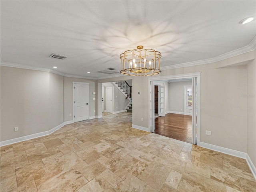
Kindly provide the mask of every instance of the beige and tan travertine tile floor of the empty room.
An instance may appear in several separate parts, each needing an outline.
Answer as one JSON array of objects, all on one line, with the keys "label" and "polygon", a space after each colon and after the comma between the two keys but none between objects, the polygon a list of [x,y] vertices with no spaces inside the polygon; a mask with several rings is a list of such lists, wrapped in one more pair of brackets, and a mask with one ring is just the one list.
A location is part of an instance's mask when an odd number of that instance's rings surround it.
[{"label": "beige and tan travertine tile floor of the empty room", "polygon": [[131,128],[129,112],[1,148],[1,192],[252,192],[246,160]]}]

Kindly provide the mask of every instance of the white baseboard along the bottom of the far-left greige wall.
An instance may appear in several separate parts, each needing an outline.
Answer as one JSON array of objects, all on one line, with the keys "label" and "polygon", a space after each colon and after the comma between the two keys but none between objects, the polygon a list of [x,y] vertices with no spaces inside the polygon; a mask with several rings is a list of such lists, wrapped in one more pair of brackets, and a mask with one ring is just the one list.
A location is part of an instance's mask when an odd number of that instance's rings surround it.
[{"label": "white baseboard along the bottom of the far-left greige wall", "polygon": [[15,139],[1,141],[0,146],[2,147],[2,146],[5,146],[5,145],[10,145],[10,144],[14,144],[14,143],[18,143],[18,142],[22,142],[22,141],[26,141],[26,140],[30,140],[30,139],[34,139],[34,138],[38,138],[38,137],[42,137],[42,136],[46,136],[46,135],[50,135],[51,133],[53,133],[54,131],[58,130],[59,128],[61,128],[63,126],[64,126],[64,124],[62,123],[62,124],[52,128],[49,131],[44,131],[44,132],[35,133],[35,134],[32,134],[32,135],[27,135],[27,136],[15,138]]}]

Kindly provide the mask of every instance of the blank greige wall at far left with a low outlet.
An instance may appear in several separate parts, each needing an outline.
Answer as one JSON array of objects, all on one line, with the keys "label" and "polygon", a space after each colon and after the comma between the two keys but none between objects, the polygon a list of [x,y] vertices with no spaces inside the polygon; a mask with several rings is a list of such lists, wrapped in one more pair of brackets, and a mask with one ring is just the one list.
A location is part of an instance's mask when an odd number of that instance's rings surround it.
[{"label": "blank greige wall at far left with a low outlet", "polygon": [[[1,66],[1,137],[46,132],[63,123],[63,77]],[[14,132],[14,127],[18,131]]]}]

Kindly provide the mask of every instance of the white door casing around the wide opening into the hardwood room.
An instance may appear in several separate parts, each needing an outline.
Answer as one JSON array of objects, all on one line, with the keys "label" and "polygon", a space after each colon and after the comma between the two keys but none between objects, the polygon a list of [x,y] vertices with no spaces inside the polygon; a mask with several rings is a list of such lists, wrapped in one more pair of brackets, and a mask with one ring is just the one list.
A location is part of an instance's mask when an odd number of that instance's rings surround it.
[{"label": "white door casing around the wide opening into the hardwood room", "polygon": [[[192,144],[200,144],[200,72],[148,78],[149,86],[149,129],[155,131],[154,82],[164,80],[192,79]],[[183,98],[183,97],[182,97]],[[183,110],[183,109],[182,109]]]}]

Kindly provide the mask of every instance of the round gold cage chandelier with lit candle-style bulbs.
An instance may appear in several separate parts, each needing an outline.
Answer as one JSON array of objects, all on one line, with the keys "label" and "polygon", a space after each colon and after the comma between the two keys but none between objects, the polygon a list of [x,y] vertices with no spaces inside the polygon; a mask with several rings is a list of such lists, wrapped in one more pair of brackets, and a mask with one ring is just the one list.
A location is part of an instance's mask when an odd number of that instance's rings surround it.
[{"label": "round gold cage chandelier with lit candle-style bulbs", "polygon": [[150,76],[161,73],[161,53],[153,49],[144,49],[137,46],[137,49],[127,50],[120,54],[121,74],[130,76]]}]

